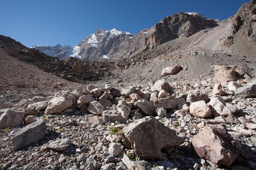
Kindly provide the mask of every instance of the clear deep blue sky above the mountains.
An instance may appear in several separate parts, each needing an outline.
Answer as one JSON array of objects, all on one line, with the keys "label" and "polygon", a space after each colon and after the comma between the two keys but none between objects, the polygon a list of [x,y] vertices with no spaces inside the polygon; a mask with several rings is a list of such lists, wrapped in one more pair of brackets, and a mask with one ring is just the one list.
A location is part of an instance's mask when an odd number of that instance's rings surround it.
[{"label": "clear deep blue sky above the mountains", "polygon": [[250,0],[0,0],[0,35],[28,47],[72,45],[98,28],[138,33],[177,12],[228,19]]}]

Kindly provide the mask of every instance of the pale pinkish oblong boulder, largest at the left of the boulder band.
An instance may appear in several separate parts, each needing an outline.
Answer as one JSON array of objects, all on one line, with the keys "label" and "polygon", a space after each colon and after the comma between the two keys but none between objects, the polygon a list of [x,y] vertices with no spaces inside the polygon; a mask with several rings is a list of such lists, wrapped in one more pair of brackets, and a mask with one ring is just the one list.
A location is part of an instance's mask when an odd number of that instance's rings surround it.
[{"label": "pale pinkish oblong boulder, largest at the left of the boulder band", "polygon": [[57,114],[65,111],[65,109],[70,108],[73,104],[71,99],[66,97],[54,97],[49,101],[48,107],[46,108],[45,114]]}]

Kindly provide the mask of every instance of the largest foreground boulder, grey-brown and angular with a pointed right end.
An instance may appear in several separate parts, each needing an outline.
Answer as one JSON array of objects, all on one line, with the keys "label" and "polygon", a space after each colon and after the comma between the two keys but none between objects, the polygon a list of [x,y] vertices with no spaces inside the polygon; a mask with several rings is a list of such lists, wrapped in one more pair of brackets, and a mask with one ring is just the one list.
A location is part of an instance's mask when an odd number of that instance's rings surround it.
[{"label": "largest foreground boulder, grey-brown and angular with a pointed right end", "polygon": [[123,128],[122,137],[123,145],[134,150],[141,159],[161,159],[162,151],[184,142],[175,130],[167,128],[152,116],[136,120]]}]

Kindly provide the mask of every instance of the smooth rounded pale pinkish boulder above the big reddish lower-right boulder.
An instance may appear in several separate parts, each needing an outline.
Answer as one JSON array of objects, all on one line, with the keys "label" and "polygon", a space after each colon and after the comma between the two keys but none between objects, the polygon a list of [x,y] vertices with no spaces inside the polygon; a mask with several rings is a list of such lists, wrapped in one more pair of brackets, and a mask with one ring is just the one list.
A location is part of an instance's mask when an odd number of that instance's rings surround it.
[{"label": "smooth rounded pale pinkish boulder above the big reddish lower-right boulder", "polygon": [[195,117],[208,118],[212,116],[212,111],[210,111],[204,100],[191,103],[189,111]]}]

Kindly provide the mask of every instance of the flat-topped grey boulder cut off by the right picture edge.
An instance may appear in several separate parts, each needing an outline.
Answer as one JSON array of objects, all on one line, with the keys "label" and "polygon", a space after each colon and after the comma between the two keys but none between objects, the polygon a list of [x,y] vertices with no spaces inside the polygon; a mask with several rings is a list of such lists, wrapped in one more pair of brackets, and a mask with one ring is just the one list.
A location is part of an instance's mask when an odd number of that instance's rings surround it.
[{"label": "flat-topped grey boulder cut off by the right picture edge", "polygon": [[245,98],[256,97],[256,84],[248,84],[246,86],[238,88],[236,95]]}]

